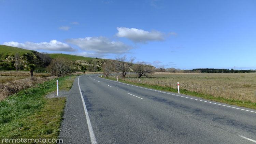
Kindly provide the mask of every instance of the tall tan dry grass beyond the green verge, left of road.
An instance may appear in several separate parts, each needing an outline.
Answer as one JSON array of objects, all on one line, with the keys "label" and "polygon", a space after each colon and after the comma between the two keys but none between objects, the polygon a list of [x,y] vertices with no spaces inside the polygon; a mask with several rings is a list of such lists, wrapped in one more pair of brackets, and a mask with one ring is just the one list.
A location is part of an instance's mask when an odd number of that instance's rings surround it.
[{"label": "tall tan dry grass beyond the green verge, left of road", "polygon": [[0,84],[0,100],[7,98],[14,93],[32,87],[36,84],[41,84],[45,81],[52,80],[56,78],[55,76],[51,77],[31,77],[31,78],[24,78],[19,80],[13,80],[7,83]]}]

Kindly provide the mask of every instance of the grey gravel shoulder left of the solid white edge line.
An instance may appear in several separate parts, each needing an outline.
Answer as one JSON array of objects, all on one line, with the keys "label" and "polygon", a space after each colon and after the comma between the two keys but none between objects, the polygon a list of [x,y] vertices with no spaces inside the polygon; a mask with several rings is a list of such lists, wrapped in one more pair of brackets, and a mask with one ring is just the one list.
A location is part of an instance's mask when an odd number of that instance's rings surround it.
[{"label": "grey gravel shoulder left of the solid white edge line", "polygon": [[[59,138],[65,144],[91,143],[85,112],[77,83],[77,76],[69,91],[60,91],[59,97],[66,97],[63,120],[61,122]],[[56,92],[48,98],[56,97]]]}]

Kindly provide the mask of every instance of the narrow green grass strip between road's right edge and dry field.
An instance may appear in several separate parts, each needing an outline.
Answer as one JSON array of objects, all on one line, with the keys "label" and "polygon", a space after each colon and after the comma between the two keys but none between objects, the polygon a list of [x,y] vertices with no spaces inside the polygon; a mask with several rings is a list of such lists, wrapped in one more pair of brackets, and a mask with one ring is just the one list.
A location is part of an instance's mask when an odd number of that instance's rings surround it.
[{"label": "narrow green grass strip between road's right edge and dry field", "polygon": [[[116,81],[116,78],[112,78],[112,77],[105,77],[105,78],[109,79],[109,80]],[[158,85],[147,85],[147,84],[142,84],[142,83],[134,83],[134,82],[129,82],[129,81],[122,80],[122,79],[119,79],[119,78],[118,78],[118,82],[123,82],[123,83],[131,84],[131,85],[137,85],[137,86],[156,89],[156,90],[169,91],[169,92],[175,92],[175,93],[178,92],[178,89],[175,89],[175,88],[163,87],[163,86],[158,86]],[[189,96],[195,96],[195,97],[211,100],[211,101],[227,103],[227,104],[230,104],[230,105],[237,105],[237,106],[247,107],[247,108],[256,110],[256,103],[251,102],[251,101],[241,101],[241,100],[235,100],[235,99],[226,99],[226,98],[222,98],[222,97],[214,97],[212,95],[197,93],[197,92],[194,92],[194,91],[193,92],[188,91],[186,89],[180,89],[180,93],[185,94],[185,95],[189,95]]]}]

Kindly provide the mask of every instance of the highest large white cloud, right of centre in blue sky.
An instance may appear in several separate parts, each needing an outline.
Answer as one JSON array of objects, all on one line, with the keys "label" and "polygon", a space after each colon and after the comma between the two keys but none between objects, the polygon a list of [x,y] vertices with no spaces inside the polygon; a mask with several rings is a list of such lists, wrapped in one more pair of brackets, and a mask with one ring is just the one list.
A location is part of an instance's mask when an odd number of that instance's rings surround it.
[{"label": "highest large white cloud, right of centre in blue sky", "polygon": [[125,37],[133,42],[147,43],[147,41],[163,41],[164,33],[160,31],[144,31],[136,28],[117,27],[117,37]]}]

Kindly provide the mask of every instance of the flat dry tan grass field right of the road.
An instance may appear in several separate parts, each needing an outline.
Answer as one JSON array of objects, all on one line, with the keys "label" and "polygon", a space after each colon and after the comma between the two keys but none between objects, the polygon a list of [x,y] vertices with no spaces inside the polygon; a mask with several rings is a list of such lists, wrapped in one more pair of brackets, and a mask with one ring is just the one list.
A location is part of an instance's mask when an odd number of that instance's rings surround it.
[{"label": "flat dry tan grass field right of the road", "polygon": [[[116,77],[116,75],[112,75]],[[120,76],[118,76],[119,78]],[[120,77],[121,78],[121,77]],[[149,78],[129,74],[125,80],[147,85],[177,88],[209,94],[214,97],[256,102],[255,73],[153,73]]]}]

